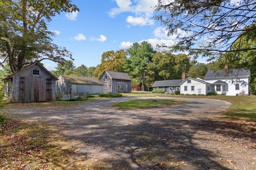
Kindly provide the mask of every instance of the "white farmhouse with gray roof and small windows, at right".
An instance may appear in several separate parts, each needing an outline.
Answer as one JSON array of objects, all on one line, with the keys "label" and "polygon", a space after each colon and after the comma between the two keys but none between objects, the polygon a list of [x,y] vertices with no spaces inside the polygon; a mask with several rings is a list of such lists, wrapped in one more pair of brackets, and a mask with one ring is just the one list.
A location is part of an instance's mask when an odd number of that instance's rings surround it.
[{"label": "white farmhouse with gray roof and small windows, at right", "polygon": [[236,96],[249,94],[250,70],[207,71],[204,79],[187,78],[180,83],[180,93],[189,95],[207,95],[217,92],[218,95]]}]

